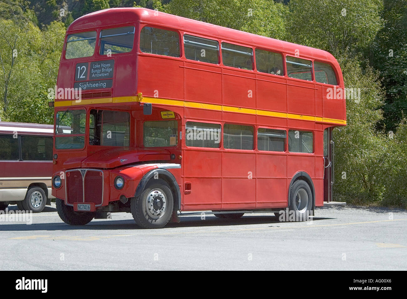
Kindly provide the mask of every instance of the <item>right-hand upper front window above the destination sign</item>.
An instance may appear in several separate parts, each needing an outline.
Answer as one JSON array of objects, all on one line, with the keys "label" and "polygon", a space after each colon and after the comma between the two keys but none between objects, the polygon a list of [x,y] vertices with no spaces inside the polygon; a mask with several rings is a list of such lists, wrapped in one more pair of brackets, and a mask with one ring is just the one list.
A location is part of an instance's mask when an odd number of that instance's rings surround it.
[{"label": "right-hand upper front window above the destination sign", "polygon": [[127,53],[133,48],[134,26],[101,31],[101,55]]}]

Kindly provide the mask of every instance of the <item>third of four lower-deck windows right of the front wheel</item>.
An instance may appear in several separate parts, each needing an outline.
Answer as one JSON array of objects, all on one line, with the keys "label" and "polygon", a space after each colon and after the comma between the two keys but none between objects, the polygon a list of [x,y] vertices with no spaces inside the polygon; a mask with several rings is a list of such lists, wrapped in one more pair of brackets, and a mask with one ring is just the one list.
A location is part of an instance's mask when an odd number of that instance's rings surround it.
[{"label": "third of four lower-deck windows right of the front wheel", "polygon": [[258,128],[257,147],[259,151],[284,152],[286,131]]}]

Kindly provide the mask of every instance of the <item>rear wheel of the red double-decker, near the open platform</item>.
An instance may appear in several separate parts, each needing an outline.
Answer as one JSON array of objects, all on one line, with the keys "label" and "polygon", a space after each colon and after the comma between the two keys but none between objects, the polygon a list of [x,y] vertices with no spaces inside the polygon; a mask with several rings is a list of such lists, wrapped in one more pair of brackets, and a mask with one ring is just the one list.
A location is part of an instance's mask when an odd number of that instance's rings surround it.
[{"label": "rear wheel of the red double-decker, near the open platform", "polygon": [[295,221],[305,221],[313,205],[311,188],[304,180],[296,180],[290,188],[289,211],[295,214]]}]

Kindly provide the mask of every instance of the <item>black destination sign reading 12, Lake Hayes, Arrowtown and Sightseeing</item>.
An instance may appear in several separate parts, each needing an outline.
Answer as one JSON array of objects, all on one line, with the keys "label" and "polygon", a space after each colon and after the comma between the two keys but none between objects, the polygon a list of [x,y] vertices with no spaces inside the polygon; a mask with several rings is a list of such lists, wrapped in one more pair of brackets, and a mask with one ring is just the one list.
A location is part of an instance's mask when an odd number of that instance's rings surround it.
[{"label": "black destination sign reading 12, Lake Hayes, Arrowtown and Sightseeing", "polygon": [[114,59],[78,63],[75,70],[75,81],[77,82],[74,83],[74,88],[81,88],[82,90],[111,88],[113,86],[113,79],[111,79],[113,78],[113,70]]}]

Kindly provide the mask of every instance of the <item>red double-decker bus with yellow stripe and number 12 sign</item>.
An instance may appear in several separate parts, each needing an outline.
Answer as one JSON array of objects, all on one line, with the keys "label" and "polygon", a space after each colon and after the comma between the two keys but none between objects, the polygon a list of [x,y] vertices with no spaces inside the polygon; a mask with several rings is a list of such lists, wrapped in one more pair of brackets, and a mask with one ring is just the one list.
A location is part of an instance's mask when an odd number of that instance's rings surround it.
[{"label": "red double-decker bus with yellow stripe and number 12 sign", "polygon": [[346,105],[327,97],[344,81],[326,51],[107,9],[68,27],[57,88],[52,192],[68,224],[118,211],[143,228],[182,211],[301,216],[332,201]]}]

